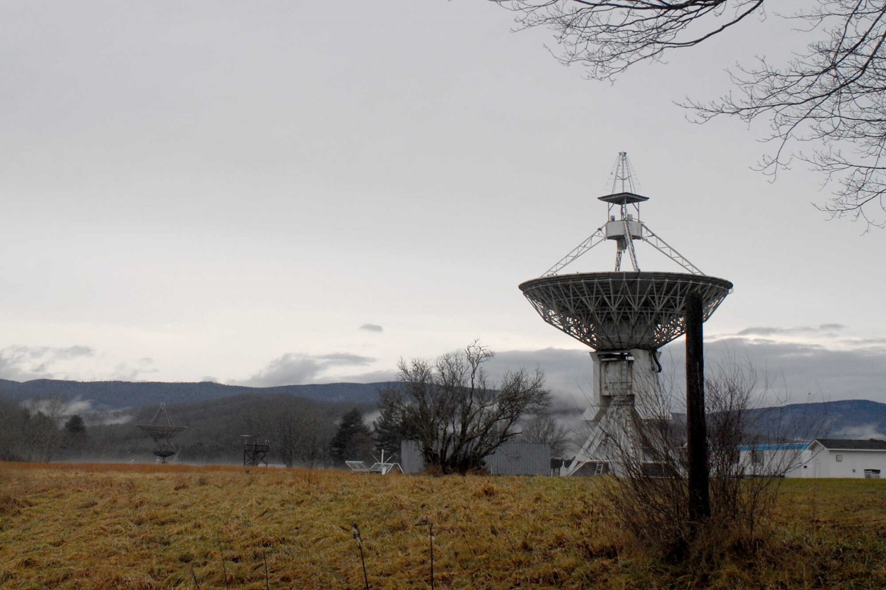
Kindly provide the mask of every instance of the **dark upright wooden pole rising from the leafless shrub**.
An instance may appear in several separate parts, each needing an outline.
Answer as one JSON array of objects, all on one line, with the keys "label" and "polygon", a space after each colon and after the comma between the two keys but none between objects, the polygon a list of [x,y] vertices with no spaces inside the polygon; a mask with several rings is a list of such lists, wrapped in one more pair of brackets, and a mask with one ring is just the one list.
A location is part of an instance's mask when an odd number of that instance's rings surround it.
[{"label": "dark upright wooden pole rising from the leafless shrub", "polygon": [[686,432],[689,521],[711,516],[708,471],[708,428],[704,418],[704,335],[702,296],[686,298]]}]

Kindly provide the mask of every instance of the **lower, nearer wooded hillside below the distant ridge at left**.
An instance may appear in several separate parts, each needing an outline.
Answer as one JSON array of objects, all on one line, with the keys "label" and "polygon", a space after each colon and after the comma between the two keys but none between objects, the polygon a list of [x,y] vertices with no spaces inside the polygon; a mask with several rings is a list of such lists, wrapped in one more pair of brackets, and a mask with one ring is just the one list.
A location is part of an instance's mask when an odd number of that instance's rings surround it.
[{"label": "lower, nearer wooded hillside below the distant ridge at left", "polygon": [[[241,436],[252,435],[256,440],[268,441],[269,462],[328,466],[330,440],[342,415],[352,408],[370,413],[375,406],[307,400],[285,393],[249,393],[196,403],[169,403],[166,409],[176,426],[187,427],[173,439],[182,449],[177,461],[242,462]],[[57,401],[28,409],[0,396],[0,459],[155,461],[154,442],[136,425],[150,423],[159,404],[137,408],[125,423],[86,421],[81,423],[82,428],[73,428],[72,416],[60,414],[63,409],[64,404]]]}]

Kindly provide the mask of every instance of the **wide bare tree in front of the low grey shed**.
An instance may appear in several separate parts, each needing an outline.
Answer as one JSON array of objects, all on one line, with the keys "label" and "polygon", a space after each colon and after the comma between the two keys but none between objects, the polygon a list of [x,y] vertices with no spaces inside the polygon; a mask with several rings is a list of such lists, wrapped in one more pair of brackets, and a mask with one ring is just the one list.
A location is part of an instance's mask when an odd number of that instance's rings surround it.
[{"label": "wide bare tree in front of the low grey shed", "polygon": [[548,405],[544,374],[525,369],[488,382],[483,363],[493,353],[476,342],[462,354],[436,362],[400,361],[400,387],[381,392],[380,408],[403,425],[422,449],[424,462],[441,473],[467,473],[517,436],[517,423]]}]

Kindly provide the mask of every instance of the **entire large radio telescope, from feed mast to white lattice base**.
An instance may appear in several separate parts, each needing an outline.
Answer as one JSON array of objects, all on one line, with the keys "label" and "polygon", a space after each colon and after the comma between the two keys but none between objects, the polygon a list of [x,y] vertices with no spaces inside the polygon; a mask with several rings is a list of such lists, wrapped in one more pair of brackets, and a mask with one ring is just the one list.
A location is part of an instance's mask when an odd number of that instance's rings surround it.
[{"label": "entire large radio telescope, from feed mast to white lattice base", "polygon": [[[732,290],[732,283],[706,276],[658,237],[640,219],[640,205],[626,152],[612,171],[607,221],[539,278],[520,284],[541,318],[590,346],[594,361],[594,400],[585,411],[587,442],[567,467],[567,475],[620,473],[625,454],[639,456],[637,427],[643,421],[667,420],[662,407],[658,349],[686,331],[684,307],[690,293],[700,295],[707,320]],[[612,272],[558,274],[579,256],[600,245],[616,244]],[[645,243],[664,253],[686,272],[641,271],[635,245]],[[623,271],[623,259],[633,270]]]}]

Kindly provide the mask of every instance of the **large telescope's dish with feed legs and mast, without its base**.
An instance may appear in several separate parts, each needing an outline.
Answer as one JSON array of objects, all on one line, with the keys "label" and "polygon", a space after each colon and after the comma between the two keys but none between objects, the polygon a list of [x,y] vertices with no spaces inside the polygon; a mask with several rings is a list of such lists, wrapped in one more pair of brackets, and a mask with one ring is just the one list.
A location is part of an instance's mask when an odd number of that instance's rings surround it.
[{"label": "large telescope's dish with feed legs and mast, without its base", "polygon": [[[732,283],[704,275],[641,221],[640,204],[649,198],[636,193],[626,152],[618,154],[612,176],[612,192],[599,198],[608,206],[608,221],[543,276],[521,283],[520,291],[545,322],[597,351],[657,350],[686,332],[683,309],[690,293],[701,296],[707,320]],[[558,274],[608,241],[617,245],[613,272]],[[688,272],[641,271],[637,243],[651,245]],[[625,258],[633,272],[621,269]]]}]

